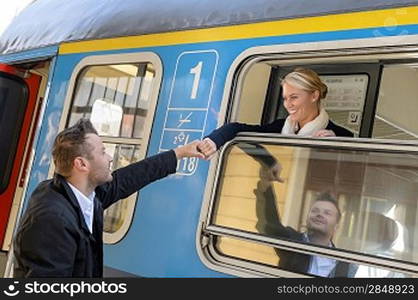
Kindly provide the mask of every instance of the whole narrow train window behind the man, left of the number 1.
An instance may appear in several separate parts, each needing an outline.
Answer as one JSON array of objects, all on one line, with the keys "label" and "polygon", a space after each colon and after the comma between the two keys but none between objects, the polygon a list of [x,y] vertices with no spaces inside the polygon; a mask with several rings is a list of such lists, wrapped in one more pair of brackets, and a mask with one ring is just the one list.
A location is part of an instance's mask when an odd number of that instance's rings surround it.
[{"label": "whole narrow train window behind the man, left of the number 1", "polygon": [[[142,159],[155,109],[158,88],[155,64],[124,63],[87,66],[77,77],[68,119],[71,126],[90,118],[113,156],[113,169]],[[159,78],[161,75],[159,75]],[[116,242],[132,219],[136,195],[118,201],[105,211],[106,242]],[[112,238],[117,236],[117,238]]]}]

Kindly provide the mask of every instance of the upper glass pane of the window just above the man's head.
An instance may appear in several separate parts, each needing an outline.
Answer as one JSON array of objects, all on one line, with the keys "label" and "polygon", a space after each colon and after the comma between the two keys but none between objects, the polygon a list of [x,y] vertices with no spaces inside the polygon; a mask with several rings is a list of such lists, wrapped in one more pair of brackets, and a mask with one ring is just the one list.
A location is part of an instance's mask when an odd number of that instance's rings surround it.
[{"label": "upper glass pane of the window just above the man's head", "polygon": [[142,138],[154,78],[149,63],[85,68],[77,79],[69,126],[86,117],[102,136]]}]

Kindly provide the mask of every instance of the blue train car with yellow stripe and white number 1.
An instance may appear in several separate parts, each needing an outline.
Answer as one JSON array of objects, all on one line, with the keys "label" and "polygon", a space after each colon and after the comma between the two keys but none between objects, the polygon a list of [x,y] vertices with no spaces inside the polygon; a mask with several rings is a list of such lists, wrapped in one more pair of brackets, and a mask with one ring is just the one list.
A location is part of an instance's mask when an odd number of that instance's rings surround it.
[{"label": "blue train car with yellow stripe and white number 1", "polygon": [[[225,123],[285,116],[280,78],[304,66],[355,138],[244,133],[210,161],[179,161],[105,212],[105,274],[310,276],[280,268],[281,249],[348,262],[355,277],[416,277],[417,20],[406,0],[34,1],[0,37],[4,276],[29,196],[53,174],[57,132],[90,118],[119,168]],[[259,146],[280,159],[284,183],[248,155]],[[324,190],[343,211],[335,247],[257,229],[273,200],[302,231]]]}]

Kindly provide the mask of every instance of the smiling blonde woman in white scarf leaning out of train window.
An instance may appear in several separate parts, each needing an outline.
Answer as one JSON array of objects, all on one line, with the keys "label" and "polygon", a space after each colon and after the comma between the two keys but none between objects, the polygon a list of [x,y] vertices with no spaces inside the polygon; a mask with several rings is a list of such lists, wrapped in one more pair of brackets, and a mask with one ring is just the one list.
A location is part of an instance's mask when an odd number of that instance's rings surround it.
[{"label": "smiling blonde woman in white scarf leaning out of train window", "polygon": [[314,71],[297,68],[284,77],[281,86],[284,107],[289,113],[286,119],[278,119],[267,125],[226,124],[214,130],[198,145],[205,157],[210,157],[241,131],[305,137],[353,136],[349,130],[334,124],[325,109],[321,108],[321,99],[326,97],[328,88]]}]

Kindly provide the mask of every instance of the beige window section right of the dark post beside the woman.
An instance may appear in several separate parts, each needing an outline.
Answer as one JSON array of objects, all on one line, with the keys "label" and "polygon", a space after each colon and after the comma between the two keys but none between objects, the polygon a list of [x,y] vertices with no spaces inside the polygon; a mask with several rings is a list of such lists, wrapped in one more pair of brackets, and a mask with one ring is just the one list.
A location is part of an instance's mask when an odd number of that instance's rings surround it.
[{"label": "beige window section right of the dark post beside the woman", "polygon": [[418,137],[418,66],[383,68],[373,138],[416,140]]}]

